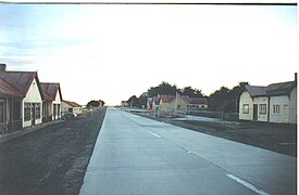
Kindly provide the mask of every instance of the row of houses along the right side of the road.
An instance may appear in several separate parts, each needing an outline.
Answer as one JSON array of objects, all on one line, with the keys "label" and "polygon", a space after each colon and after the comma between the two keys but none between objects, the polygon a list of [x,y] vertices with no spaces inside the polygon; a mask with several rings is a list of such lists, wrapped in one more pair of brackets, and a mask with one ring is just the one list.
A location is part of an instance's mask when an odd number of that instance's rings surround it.
[{"label": "row of houses along the right side of the road", "polygon": [[[295,80],[272,83],[265,87],[246,86],[237,96],[240,120],[297,123],[297,74]],[[122,106],[128,106],[123,101]],[[165,113],[205,110],[205,98],[187,95],[158,95],[148,98],[147,109]]]}]

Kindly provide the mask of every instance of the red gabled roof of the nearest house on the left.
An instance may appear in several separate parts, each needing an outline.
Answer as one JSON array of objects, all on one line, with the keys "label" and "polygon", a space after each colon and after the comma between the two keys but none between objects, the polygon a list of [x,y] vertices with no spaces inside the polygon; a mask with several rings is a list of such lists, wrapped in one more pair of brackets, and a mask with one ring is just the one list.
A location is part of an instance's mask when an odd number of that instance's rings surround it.
[{"label": "red gabled roof of the nearest house on the left", "polygon": [[[36,72],[0,72],[0,79],[11,86],[11,90],[14,89],[15,94],[16,92],[21,93],[22,98],[26,96],[34,79],[37,80],[37,86],[41,92],[41,87],[39,84],[39,79]],[[43,99],[42,93],[40,95]]]}]

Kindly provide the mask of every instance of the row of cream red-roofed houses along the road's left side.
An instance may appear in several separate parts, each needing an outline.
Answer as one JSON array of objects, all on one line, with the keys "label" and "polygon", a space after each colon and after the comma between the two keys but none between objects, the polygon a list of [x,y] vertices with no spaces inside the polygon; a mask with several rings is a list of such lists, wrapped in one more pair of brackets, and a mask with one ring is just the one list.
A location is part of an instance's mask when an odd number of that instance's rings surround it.
[{"label": "row of cream red-roofed houses along the road's left side", "polygon": [[40,82],[37,72],[9,72],[0,64],[0,135],[60,119],[70,107],[60,83]]}]

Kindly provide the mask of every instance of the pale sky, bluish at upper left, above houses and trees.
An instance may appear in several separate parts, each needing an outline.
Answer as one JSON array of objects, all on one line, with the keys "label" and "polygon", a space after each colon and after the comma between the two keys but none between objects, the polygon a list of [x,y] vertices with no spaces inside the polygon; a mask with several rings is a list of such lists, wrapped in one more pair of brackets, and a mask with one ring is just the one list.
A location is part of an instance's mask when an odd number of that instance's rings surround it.
[{"label": "pale sky, bluish at upper left, above houses and trees", "polygon": [[294,80],[296,5],[0,3],[0,63],[119,105],[162,81],[205,95]]}]

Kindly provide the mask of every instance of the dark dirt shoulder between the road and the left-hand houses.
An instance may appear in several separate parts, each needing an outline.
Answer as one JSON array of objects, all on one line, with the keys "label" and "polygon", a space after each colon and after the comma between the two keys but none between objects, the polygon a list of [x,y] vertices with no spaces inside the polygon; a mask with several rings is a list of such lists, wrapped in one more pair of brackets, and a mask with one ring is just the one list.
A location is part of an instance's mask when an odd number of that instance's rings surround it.
[{"label": "dark dirt shoulder between the road and the left-hand houses", "polygon": [[0,144],[1,194],[78,194],[105,108]]}]

